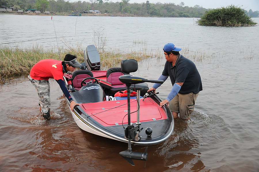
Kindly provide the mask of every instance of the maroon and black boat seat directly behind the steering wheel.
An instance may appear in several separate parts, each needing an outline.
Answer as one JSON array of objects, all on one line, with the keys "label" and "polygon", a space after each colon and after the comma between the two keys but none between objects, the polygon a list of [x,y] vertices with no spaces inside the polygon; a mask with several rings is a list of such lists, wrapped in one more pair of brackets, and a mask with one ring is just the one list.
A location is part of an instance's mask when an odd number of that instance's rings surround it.
[{"label": "maroon and black boat seat directly behind the steering wheel", "polygon": [[[81,82],[83,81],[83,79],[85,79],[87,77],[93,77],[93,73],[90,70],[76,70],[75,72],[73,72],[72,78],[68,79],[68,80],[72,81],[73,89],[71,91],[74,92],[74,91],[80,90]],[[86,83],[89,81],[91,81],[91,79],[85,80]],[[84,85],[86,85],[86,84],[83,84],[83,86]]]}]

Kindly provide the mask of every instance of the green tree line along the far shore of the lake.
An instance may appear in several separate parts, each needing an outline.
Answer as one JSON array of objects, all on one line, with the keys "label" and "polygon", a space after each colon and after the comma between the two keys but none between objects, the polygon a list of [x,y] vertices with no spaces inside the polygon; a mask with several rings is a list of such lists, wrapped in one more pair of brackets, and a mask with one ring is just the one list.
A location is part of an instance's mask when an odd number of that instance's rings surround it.
[{"label": "green tree line along the far shore of the lake", "polygon": [[[37,9],[55,13],[70,13],[71,11],[99,10],[102,13],[119,14],[127,13],[134,16],[156,16],[156,17],[196,17],[200,18],[206,8],[200,5],[193,7],[184,6],[184,2],[175,3],[129,3],[129,0],[121,2],[109,2],[108,0],[89,0],[69,2],[64,0],[0,0],[0,5],[14,5],[14,11],[18,9]],[[248,16],[258,17],[259,12],[251,9]]]}]

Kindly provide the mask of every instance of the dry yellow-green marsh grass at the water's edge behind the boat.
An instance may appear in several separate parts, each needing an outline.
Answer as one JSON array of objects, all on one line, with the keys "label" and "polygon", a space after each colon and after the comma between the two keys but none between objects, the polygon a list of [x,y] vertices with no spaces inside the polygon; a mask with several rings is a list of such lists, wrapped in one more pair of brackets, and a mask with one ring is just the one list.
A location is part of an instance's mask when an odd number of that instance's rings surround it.
[{"label": "dry yellow-green marsh grass at the water's edge behind the boat", "polygon": [[[30,73],[34,64],[43,59],[64,60],[67,53],[77,56],[80,63],[84,62],[82,49],[62,49],[60,56],[54,50],[43,50],[42,47],[33,47],[31,49],[19,49],[0,47],[0,83],[4,84],[20,76],[26,76]],[[121,60],[135,59],[138,62],[147,58],[161,56],[146,52],[130,52],[130,53],[115,53],[101,51],[101,70],[106,70],[111,67],[120,66]],[[61,58],[60,58],[61,57]]]}]

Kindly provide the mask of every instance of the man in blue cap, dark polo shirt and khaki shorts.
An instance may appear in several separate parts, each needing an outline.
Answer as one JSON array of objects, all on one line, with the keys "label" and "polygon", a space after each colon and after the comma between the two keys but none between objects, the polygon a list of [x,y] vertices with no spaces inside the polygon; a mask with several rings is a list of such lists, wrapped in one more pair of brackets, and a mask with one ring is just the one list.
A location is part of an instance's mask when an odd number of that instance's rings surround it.
[{"label": "man in blue cap, dark polo shirt and khaki shorts", "polygon": [[[160,102],[160,106],[169,105],[174,118],[179,113],[181,119],[190,119],[199,91],[202,90],[201,76],[195,64],[180,55],[181,48],[167,43],[163,50],[166,62],[159,80],[165,81],[169,76],[173,88],[167,98]],[[155,92],[160,85],[155,83],[148,91]]]}]

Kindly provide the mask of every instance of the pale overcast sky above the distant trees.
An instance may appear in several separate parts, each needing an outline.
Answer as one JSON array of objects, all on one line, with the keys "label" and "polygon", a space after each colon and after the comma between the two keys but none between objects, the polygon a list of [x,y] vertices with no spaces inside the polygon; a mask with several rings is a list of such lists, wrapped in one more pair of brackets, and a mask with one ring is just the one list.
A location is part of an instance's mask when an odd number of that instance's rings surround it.
[{"label": "pale overcast sky above the distant trees", "polygon": [[[75,2],[77,0],[70,0],[70,2]],[[89,0],[81,0],[89,1]],[[109,0],[112,2],[117,2],[121,0]],[[143,3],[147,0],[130,0],[129,3]],[[259,0],[148,0],[150,3],[175,3],[179,5],[181,2],[184,2],[184,6],[193,7],[194,5],[200,5],[204,8],[220,8],[226,7],[228,5],[235,5],[241,7],[247,11],[252,9],[252,11],[259,11]],[[242,6],[243,5],[243,6]]]}]

